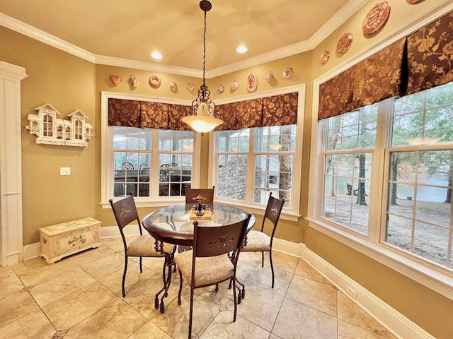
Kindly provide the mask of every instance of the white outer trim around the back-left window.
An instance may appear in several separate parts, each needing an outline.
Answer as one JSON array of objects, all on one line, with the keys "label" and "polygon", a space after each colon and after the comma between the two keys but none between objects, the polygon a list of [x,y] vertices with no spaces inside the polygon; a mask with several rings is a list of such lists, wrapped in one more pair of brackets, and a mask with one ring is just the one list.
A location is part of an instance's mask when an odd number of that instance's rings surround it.
[{"label": "white outer trim around the back-left window", "polygon": [[[140,100],[161,102],[165,104],[175,105],[192,105],[189,100],[169,100],[161,97],[148,97],[145,95],[132,95],[126,93],[101,92],[101,202],[102,208],[110,208],[108,200],[113,198],[113,186],[109,183],[113,182],[113,160],[112,152],[113,133],[108,129],[108,99],[124,99],[124,100]],[[194,150],[192,158],[192,184],[197,186],[200,182],[200,148],[201,148],[200,133],[195,133]],[[156,147],[157,145],[154,145]],[[155,150],[153,150],[154,152]],[[117,199],[117,198],[116,198]],[[151,197],[137,197],[135,204],[137,207],[159,207],[167,206],[168,204],[185,203],[183,196],[161,196],[159,199]]]}]

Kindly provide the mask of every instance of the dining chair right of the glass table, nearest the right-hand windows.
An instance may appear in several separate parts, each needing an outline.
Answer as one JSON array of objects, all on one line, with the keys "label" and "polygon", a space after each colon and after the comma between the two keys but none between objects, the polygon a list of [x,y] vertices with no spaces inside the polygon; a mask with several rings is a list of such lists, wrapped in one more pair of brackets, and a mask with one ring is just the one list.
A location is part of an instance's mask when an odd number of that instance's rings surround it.
[{"label": "dining chair right of the glass table, nearest the right-hand windows", "polygon": [[[246,234],[244,240],[244,246],[242,251],[244,252],[261,252],[261,267],[264,267],[264,252],[269,252],[270,270],[272,271],[272,288],[274,288],[274,266],[272,263],[272,243],[274,240],[275,229],[277,228],[278,220],[280,219],[280,213],[282,213],[284,200],[278,200],[272,196],[272,192],[269,194],[268,205],[263,217],[263,224],[261,225],[261,231],[251,230]],[[270,235],[265,234],[264,227],[266,220],[273,224],[273,230]]]}]

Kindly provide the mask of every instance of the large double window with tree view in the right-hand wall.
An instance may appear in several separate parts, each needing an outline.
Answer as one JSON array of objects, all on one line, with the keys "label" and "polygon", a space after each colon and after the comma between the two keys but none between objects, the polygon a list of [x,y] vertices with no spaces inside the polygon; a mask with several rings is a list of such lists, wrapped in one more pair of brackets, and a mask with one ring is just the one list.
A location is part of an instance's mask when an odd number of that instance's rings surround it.
[{"label": "large double window with tree view in the right-hand wall", "polygon": [[319,121],[310,225],[451,276],[451,93],[447,83]]}]

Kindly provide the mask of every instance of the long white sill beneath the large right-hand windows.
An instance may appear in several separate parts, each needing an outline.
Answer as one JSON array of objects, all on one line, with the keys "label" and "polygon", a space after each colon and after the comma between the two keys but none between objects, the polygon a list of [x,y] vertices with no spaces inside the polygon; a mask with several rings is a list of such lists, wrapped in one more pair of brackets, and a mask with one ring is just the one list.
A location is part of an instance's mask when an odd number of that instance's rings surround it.
[{"label": "long white sill beneath the large right-hand windows", "polygon": [[427,266],[422,261],[417,261],[415,258],[404,256],[394,251],[391,246],[374,244],[363,237],[342,230],[324,220],[311,218],[306,218],[306,220],[309,222],[309,227],[453,300],[453,275],[446,270]]}]

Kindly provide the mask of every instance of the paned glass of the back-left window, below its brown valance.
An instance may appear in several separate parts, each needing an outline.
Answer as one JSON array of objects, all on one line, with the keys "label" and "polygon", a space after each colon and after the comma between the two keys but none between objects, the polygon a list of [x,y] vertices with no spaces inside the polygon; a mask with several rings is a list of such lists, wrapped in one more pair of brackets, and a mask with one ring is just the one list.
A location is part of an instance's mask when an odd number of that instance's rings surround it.
[{"label": "paned glass of the back-left window, below its brown valance", "polygon": [[[184,195],[192,180],[193,131],[109,129],[113,130],[113,196]],[[152,164],[157,167],[154,171]]]}]

